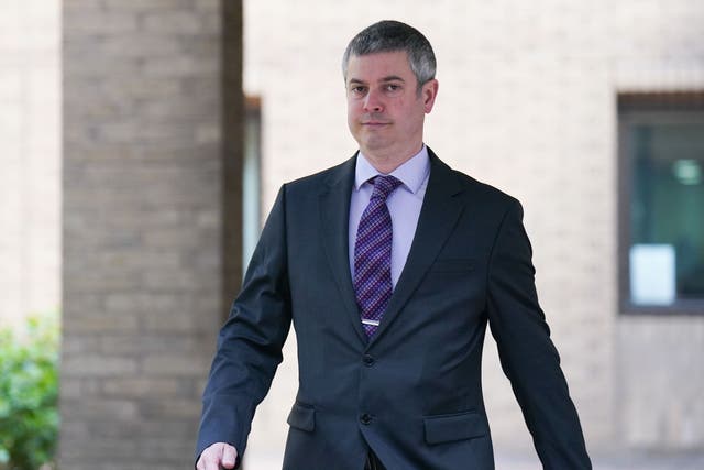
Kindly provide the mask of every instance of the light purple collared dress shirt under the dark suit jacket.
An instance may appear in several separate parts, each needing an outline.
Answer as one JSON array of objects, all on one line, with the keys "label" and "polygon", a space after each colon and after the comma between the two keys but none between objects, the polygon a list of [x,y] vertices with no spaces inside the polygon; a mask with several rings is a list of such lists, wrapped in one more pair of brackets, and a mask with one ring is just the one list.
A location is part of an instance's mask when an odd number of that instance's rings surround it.
[{"label": "light purple collared dress shirt under the dark suit jacket", "polygon": [[[374,185],[369,179],[380,175],[380,173],[366,157],[360,152],[356,159],[354,174],[354,187],[352,188],[352,199],[350,201],[350,272],[354,278],[354,243],[356,241],[356,230],[360,226],[362,212],[370,203]],[[430,175],[430,159],[428,149],[424,145],[420,152],[414,155],[406,163],[389,173],[402,181],[400,185],[386,199],[388,211],[392,215],[393,239],[392,239],[392,284],[400,277],[406,265],[410,244],[416,234],[418,217],[422,198],[428,187]]]}]

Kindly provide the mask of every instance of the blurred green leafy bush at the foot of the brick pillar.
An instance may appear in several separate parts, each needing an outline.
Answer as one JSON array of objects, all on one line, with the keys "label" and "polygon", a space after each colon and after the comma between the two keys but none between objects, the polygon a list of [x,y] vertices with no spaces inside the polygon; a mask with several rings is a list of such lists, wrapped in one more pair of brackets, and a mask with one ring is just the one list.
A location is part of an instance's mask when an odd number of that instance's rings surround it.
[{"label": "blurred green leafy bush at the foot of the brick pillar", "polygon": [[0,329],[0,470],[37,470],[56,448],[57,315],[29,319],[23,338]]}]

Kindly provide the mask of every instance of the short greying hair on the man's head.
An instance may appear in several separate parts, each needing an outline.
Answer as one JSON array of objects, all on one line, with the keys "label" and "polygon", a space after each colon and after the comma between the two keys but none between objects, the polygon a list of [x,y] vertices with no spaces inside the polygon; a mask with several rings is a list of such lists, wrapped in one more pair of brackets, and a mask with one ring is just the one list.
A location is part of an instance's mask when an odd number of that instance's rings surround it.
[{"label": "short greying hair on the man's head", "polygon": [[342,76],[348,78],[350,57],[380,52],[405,51],[418,88],[436,77],[436,54],[430,42],[415,28],[400,21],[385,20],[360,31],[342,56]]}]

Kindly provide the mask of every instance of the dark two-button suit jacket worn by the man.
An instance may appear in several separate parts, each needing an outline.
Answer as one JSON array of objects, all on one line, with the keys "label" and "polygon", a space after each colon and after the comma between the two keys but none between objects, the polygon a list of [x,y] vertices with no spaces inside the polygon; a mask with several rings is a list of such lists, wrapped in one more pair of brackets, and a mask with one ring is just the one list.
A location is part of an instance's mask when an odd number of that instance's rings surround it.
[{"label": "dark two-button suit jacket worn by the man", "polygon": [[375,336],[360,321],[348,219],[355,157],[284,185],[218,341],[196,455],[244,452],[293,320],[299,387],[284,468],[494,468],[482,398],[486,325],[546,469],[591,469],[538,305],[520,204],[430,152],[413,247]]}]

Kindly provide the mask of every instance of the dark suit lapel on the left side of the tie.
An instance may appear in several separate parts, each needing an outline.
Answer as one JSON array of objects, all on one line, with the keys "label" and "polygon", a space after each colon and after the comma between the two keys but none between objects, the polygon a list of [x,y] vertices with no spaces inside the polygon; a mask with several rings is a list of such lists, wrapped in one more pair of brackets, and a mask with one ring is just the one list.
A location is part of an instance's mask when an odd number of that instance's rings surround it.
[{"label": "dark suit lapel on the left side of the tie", "polygon": [[344,310],[352,320],[360,339],[366,342],[366,334],[362,328],[354,297],[349,255],[350,198],[354,184],[355,163],[356,157],[348,160],[328,178],[320,194],[320,220],[323,249],[338,284]]}]

